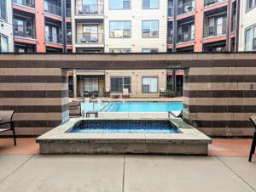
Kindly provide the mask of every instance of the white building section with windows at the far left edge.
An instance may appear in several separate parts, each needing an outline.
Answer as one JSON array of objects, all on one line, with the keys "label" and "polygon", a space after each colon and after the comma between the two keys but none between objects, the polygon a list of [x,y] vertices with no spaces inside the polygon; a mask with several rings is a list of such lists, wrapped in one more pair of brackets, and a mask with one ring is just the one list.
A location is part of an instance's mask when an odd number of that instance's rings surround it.
[{"label": "white building section with windows at the far left edge", "polygon": [[14,49],[12,5],[8,0],[0,1],[0,53]]}]

